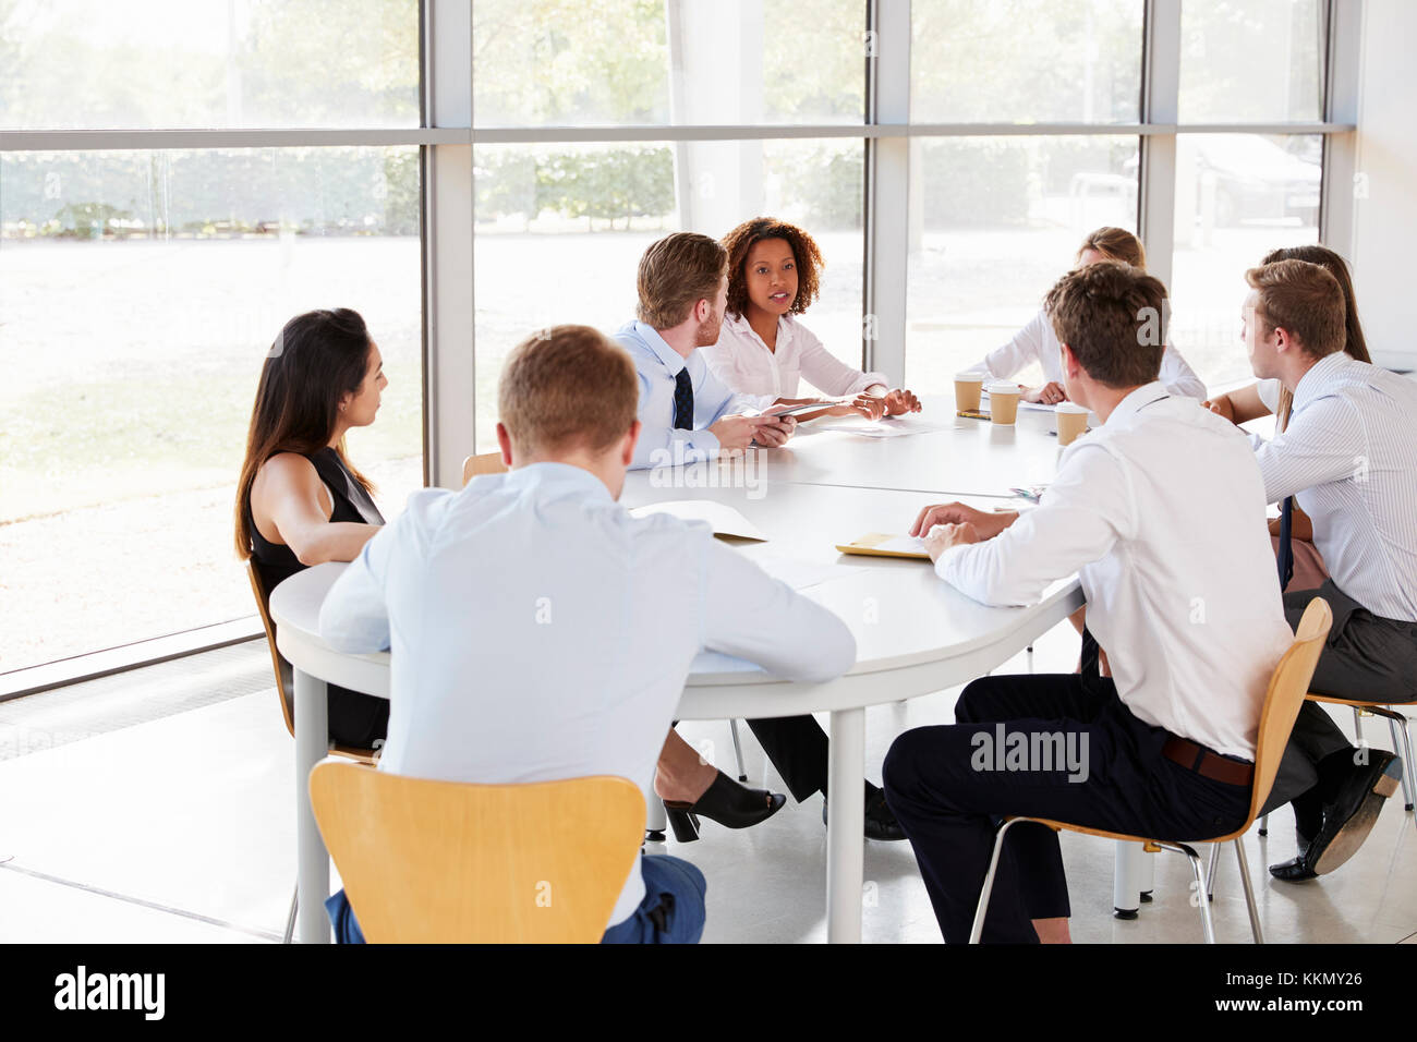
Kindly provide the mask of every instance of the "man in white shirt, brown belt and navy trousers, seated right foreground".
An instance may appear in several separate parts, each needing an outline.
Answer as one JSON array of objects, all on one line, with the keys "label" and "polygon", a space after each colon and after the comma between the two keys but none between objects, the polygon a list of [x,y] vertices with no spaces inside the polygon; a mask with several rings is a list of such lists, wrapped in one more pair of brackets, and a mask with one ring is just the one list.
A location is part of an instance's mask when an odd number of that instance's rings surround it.
[{"label": "man in white shirt, brown belt and navy trousers, seated right foreground", "polygon": [[[1162,347],[1142,326],[1165,293],[1117,262],[1066,275],[1047,298],[1063,379],[1102,427],[1064,451],[1034,510],[955,503],[915,520],[939,577],[986,604],[1033,603],[1076,571],[1091,631],[1083,673],[975,680],[956,724],[907,732],[886,758],[947,941],[968,940],[1000,815],[1187,841],[1248,812],[1260,709],[1292,634],[1244,437],[1156,381]],[[985,940],[1066,941],[1068,914],[1057,835],[1016,827]]]}]

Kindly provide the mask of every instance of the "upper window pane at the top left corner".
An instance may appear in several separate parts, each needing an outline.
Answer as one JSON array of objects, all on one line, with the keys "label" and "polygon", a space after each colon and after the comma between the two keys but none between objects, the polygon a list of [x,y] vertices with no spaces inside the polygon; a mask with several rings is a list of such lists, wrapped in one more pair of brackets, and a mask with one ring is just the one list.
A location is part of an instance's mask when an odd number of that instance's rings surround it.
[{"label": "upper window pane at the top left corner", "polygon": [[0,128],[418,118],[417,0],[0,0]]}]

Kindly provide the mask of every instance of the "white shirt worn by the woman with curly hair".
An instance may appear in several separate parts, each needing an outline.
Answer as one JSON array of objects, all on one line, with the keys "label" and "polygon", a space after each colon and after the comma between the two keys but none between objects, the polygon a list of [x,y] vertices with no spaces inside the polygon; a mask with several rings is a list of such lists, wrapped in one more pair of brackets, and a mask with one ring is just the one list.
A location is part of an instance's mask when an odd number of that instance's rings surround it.
[{"label": "white shirt worn by the woman with curly hair", "polygon": [[778,319],[778,342],[772,349],[752,332],[745,315],[724,316],[718,343],[703,353],[714,376],[740,394],[796,398],[802,377],[833,398],[860,394],[871,384],[890,387],[884,373],[847,366],[791,315]]}]

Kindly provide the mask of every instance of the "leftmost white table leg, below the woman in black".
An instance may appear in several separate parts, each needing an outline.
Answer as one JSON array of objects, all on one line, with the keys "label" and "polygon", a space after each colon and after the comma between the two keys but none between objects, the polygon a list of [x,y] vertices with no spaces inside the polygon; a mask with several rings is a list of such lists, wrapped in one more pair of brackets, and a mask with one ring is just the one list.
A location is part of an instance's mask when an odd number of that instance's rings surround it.
[{"label": "leftmost white table leg, below the woman in black", "polygon": [[330,855],[310,808],[310,770],[330,751],[330,710],[324,680],[295,671],[295,849],[302,944],[329,944]]}]

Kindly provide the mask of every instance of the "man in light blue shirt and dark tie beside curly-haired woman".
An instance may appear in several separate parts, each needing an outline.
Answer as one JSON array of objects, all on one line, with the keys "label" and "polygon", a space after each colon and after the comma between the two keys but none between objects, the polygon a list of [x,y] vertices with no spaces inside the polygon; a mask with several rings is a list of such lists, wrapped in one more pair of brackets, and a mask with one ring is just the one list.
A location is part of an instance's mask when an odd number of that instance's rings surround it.
[{"label": "man in light blue shirt and dark tie beside curly-haired woman", "polygon": [[707,235],[676,233],[639,262],[639,320],[615,340],[639,377],[636,468],[700,464],[720,451],[782,445],[796,421],[757,414],[777,400],[734,394],[700,354],[718,342],[728,301],[728,254]]}]

